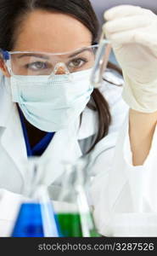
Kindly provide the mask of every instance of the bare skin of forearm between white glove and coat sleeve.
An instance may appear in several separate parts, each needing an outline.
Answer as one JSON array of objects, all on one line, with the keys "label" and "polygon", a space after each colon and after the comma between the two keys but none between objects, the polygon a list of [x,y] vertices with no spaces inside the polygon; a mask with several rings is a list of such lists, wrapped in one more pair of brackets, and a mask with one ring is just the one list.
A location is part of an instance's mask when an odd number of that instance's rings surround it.
[{"label": "bare skin of forearm between white glove and coat sleeve", "polygon": [[130,110],[129,135],[134,166],[142,166],[146,160],[151,148],[156,122],[157,112],[141,113]]}]

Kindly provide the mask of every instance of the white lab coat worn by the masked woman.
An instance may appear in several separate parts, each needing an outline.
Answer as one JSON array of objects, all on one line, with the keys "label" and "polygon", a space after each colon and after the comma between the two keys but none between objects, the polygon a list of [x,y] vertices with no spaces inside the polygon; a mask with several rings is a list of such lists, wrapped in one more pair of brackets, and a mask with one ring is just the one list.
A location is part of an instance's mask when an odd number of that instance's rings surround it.
[{"label": "white lab coat worn by the masked woman", "polygon": [[[21,194],[25,195],[27,156],[19,114],[2,76],[0,84],[0,236],[10,236],[19,202],[23,198]],[[119,226],[116,218],[121,226],[126,216],[137,219],[134,213],[143,209],[143,166],[132,166],[127,131],[128,108],[121,98],[121,87],[104,83],[100,90],[109,102],[112,124],[108,136],[96,145],[89,157],[88,170],[92,177],[89,195],[99,232],[104,236],[121,236],[117,231]],[[125,117],[126,124],[122,125]],[[43,180],[52,197],[59,190],[59,180],[64,172],[63,162],[78,160],[96,133],[97,114],[86,108],[80,130],[77,129],[78,125],[79,120],[68,129],[56,132],[42,154],[41,160],[44,162],[52,160]]]}]

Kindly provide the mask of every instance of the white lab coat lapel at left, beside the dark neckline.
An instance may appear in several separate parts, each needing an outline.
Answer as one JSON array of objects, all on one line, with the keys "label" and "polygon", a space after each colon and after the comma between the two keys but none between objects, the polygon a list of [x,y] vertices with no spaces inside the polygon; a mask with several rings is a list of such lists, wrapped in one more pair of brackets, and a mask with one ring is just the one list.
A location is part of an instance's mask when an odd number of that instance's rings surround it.
[{"label": "white lab coat lapel at left, beside the dark neckline", "polygon": [[20,125],[20,118],[16,104],[12,102],[9,79],[0,73],[0,141],[7,152],[8,157],[13,160],[13,165],[24,175],[24,162],[26,160],[25,140]]}]

